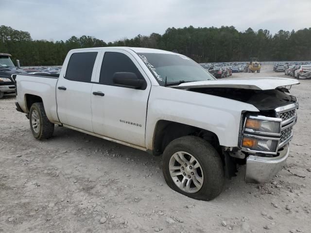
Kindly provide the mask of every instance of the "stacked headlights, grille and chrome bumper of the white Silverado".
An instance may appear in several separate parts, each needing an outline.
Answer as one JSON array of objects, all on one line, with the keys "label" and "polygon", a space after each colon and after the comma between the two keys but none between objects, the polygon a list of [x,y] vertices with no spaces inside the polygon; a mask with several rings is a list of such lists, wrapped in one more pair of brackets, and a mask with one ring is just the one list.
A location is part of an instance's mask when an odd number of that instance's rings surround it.
[{"label": "stacked headlights, grille and chrome bumper of the white Silverado", "polygon": [[282,169],[289,155],[289,141],[293,138],[297,108],[298,103],[295,102],[276,108],[275,117],[245,117],[241,150],[248,155],[246,182],[265,182]]}]

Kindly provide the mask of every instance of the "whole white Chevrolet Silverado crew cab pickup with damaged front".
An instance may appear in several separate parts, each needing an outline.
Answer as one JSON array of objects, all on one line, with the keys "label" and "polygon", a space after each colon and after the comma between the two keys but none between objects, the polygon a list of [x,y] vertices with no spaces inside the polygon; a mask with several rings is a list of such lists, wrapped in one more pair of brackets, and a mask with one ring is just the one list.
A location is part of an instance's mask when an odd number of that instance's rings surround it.
[{"label": "whole white Chevrolet Silverado crew cab pickup with damaged front", "polygon": [[70,50],[59,77],[18,74],[17,110],[36,139],[54,125],[163,155],[166,183],[211,200],[246,165],[246,182],[283,166],[296,123],[297,80],[216,80],[190,58],[146,48]]}]

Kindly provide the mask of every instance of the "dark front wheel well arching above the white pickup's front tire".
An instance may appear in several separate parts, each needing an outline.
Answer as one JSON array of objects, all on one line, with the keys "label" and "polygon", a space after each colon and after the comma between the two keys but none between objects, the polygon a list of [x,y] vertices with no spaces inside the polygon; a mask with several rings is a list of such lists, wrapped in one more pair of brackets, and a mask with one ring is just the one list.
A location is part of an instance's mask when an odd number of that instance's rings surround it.
[{"label": "dark front wheel well arching above the white pickup's front tire", "polygon": [[169,120],[159,120],[155,126],[153,153],[155,155],[162,154],[171,141],[188,135],[201,137],[211,143],[216,150],[220,149],[219,139],[213,132]]}]

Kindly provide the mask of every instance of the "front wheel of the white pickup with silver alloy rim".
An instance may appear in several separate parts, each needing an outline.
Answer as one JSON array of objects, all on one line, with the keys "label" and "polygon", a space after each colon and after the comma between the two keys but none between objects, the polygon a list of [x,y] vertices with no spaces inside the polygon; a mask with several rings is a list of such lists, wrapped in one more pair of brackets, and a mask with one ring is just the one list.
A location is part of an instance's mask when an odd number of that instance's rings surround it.
[{"label": "front wheel of the white pickup with silver alloy rim", "polygon": [[225,182],[220,155],[195,136],[177,138],[165,148],[163,175],[173,190],[197,200],[216,198]]}]

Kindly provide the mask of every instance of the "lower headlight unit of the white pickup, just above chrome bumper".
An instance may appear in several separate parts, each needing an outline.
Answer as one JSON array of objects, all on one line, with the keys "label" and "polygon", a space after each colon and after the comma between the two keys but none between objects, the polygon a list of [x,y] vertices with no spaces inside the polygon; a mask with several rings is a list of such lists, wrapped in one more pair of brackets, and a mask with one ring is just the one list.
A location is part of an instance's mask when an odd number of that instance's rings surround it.
[{"label": "lower headlight unit of the white pickup, just above chrome bumper", "polygon": [[256,151],[275,152],[277,142],[277,140],[243,137],[242,146]]}]

